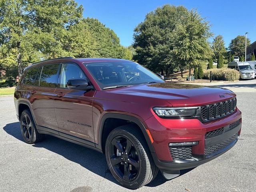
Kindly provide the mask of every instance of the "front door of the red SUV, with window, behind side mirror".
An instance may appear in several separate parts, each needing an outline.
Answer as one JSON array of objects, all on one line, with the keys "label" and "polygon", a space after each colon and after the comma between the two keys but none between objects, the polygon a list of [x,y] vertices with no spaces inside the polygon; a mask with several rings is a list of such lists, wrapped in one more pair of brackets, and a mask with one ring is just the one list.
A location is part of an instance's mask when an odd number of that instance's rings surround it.
[{"label": "front door of the red SUV, with window, behind side mirror", "polygon": [[63,63],[54,98],[60,135],[71,135],[94,143],[92,99],[95,91],[68,89],[67,82],[72,78],[87,77],[78,64]]}]

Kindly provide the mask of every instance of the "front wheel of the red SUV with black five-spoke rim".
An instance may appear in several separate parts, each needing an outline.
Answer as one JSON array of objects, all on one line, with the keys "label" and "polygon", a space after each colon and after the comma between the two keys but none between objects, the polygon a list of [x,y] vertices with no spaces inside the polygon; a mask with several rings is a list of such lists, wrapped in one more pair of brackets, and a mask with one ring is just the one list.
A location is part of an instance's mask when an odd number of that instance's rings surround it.
[{"label": "front wheel of the red SUV with black five-spoke rim", "polygon": [[110,172],[122,186],[130,189],[148,184],[158,173],[146,140],[137,129],[133,125],[115,128],[105,146]]}]

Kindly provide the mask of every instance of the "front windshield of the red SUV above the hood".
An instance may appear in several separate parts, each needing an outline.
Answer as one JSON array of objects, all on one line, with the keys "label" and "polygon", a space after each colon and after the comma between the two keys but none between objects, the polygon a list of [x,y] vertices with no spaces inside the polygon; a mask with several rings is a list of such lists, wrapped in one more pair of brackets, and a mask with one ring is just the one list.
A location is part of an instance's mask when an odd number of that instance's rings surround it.
[{"label": "front windshield of the red SUV above the hood", "polygon": [[164,82],[150,70],[132,61],[83,63],[100,88]]}]

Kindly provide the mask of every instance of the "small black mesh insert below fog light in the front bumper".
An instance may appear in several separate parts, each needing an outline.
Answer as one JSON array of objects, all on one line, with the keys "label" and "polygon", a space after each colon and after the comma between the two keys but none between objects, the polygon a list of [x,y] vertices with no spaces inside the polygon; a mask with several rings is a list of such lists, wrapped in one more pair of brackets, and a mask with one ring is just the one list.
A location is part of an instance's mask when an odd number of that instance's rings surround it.
[{"label": "small black mesh insert below fog light in the front bumper", "polygon": [[192,156],[192,147],[169,147],[172,159],[184,159]]}]

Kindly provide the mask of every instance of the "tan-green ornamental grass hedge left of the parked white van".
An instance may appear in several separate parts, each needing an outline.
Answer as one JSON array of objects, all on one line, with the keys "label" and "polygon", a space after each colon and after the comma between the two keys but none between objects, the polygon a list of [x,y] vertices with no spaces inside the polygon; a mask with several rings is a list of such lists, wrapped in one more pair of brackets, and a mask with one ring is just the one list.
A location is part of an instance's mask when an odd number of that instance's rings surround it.
[{"label": "tan-green ornamental grass hedge left of the parked white van", "polygon": [[208,69],[204,71],[204,78],[210,79],[210,71],[214,74],[215,80],[222,80],[222,76],[224,76],[225,81],[235,81],[239,79],[239,72],[234,69]]}]

